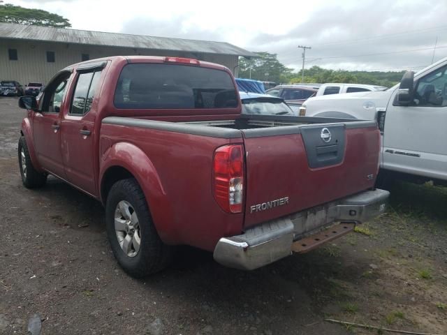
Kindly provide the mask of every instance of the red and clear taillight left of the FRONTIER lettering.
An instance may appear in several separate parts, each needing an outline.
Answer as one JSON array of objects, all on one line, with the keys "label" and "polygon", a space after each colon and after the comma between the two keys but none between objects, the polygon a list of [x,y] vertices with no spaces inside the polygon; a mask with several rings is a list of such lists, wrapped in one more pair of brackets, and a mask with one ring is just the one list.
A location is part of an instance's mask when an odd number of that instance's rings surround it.
[{"label": "red and clear taillight left of the FRONTIER lettering", "polygon": [[214,198],[228,213],[242,212],[244,198],[244,149],[242,144],[214,151]]}]

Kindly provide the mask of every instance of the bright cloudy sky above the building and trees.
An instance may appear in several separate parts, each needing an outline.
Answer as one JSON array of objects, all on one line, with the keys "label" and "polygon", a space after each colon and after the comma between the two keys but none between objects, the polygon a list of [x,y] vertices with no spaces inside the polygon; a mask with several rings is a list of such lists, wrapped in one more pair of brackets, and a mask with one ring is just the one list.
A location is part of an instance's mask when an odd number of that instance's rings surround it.
[{"label": "bright cloudy sky above the building and trees", "polygon": [[[447,57],[447,1],[4,1],[73,29],[218,40],[277,54],[289,68],[419,70]],[[436,45],[436,48],[435,48]]]}]

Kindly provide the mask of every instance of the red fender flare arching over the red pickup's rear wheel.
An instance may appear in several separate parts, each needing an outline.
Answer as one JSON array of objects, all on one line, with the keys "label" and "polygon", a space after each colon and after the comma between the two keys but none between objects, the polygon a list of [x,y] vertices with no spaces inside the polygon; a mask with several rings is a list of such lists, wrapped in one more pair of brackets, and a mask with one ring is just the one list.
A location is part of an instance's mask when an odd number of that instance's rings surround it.
[{"label": "red fender flare arching over the red pickup's rear wheel", "polygon": [[101,159],[99,170],[99,192],[103,199],[103,181],[110,168],[124,168],[138,181],[145,194],[147,206],[151,213],[156,231],[162,241],[169,243],[173,240],[172,227],[173,211],[171,210],[168,195],[161,184],[159,174],[149,157],[135,144],[117,142],[110,147]]}]

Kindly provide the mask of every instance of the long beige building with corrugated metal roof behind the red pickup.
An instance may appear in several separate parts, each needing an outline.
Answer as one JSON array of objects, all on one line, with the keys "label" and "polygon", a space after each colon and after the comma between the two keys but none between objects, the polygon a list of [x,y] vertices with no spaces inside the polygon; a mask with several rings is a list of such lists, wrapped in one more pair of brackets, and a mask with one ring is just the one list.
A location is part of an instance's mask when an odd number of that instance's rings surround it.
[{"label": "long beige building with corrugated metal roof behind the red pickup", "polygon": [[225,42],[0,23],[0,80],[47,82],[57,70],[117,55],[188,57],[227,66],[256,54]]}]

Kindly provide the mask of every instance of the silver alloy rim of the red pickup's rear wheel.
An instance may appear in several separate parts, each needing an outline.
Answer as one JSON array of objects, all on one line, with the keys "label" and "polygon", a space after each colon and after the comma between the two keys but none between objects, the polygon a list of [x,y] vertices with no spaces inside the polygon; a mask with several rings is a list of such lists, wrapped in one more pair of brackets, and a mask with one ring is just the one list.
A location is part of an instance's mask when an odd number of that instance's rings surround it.
[{"label": "silver alloy rim of the red pickup's rear wheel", "polygon": [[135,209],[126,200],[118,202],[115,208],[115,234],[127,256],[138,255],[141,245],[140,224]]}]

